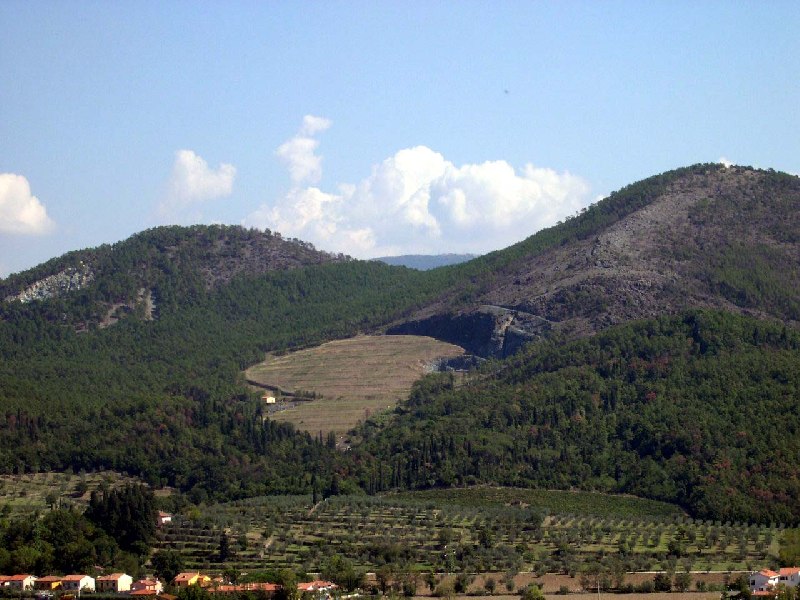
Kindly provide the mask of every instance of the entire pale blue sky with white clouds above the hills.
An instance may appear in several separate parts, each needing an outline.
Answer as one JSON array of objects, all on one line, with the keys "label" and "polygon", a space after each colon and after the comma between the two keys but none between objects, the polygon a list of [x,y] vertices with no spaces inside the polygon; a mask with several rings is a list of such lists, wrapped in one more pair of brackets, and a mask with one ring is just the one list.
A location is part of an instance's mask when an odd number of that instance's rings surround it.
[{"label": "entire pale blue sky with white clouds above the hills", "polygon": [[800,173],[800,5],[0,2],[0,276],[162,224],[486,252],[638,179]]}]

